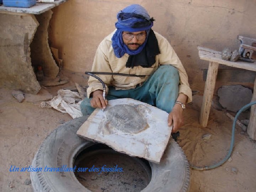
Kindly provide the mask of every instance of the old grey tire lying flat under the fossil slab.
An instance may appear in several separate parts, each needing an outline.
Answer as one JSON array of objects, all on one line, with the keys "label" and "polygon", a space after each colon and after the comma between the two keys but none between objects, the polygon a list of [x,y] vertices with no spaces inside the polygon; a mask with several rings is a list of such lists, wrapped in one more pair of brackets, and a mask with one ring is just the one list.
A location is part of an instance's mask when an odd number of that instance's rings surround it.
[{"label": "old grey tire lying flat under the fossil slab", "polygon": [[[34,156],[32,167],[73,167],[74,159],[80,151],[96,143],[78,137],[76,134],[87,117],[73,119],[57,129],[43,141]],[[189,191],[190,168],[182,149],[170,139],[160,164],[149,163],[152,170],[151,181],[144,188],[148,191]],[[76,179],[74,172],[31,172],[35,192],[88,192]]]}]

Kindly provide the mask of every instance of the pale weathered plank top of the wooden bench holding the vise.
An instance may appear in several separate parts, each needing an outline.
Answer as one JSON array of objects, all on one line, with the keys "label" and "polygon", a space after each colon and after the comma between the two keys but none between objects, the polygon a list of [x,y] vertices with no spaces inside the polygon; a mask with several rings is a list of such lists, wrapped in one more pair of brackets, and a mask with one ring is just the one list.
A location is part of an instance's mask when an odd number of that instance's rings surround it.
[{"label": "pale weathered plank top of the wooden bench holding the vise", "polygon": [[244,61],[237,61],[231,62],[227,60],[223,60],[221,57],[221,52],[215,51],[213,49],[208,49],[204,47],[197,47],[198,48],[198,55],[200,59],[207,60],[210,62],[216,62],[219,64],[236,67],[240,69],[246,69],[250,71],[256,71],[256,62],[244,62]]}]

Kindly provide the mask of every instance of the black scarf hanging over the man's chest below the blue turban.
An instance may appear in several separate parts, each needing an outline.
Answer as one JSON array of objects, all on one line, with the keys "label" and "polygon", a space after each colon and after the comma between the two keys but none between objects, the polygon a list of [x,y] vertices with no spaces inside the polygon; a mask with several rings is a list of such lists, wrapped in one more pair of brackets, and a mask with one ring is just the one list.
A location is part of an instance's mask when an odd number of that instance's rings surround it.
[{"label": "black scarf hanging over the man's chest below the blue turban", "polygon": [[158,41],[156,39],[154,31],[150,29],[145,47],[137,55],[129,55],[129,58],[126,62],[126,67],[151,67],[155,63],[155,56],[158,54],[160,54]]}]

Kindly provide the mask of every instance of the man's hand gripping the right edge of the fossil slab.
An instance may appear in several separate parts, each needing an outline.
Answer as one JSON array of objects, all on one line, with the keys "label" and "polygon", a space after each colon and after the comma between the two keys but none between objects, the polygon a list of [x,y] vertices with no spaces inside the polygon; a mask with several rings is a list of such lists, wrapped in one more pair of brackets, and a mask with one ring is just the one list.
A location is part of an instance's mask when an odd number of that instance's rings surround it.
[{"label": "man's hand gripping the right edge of the fossil slab", "polygon": [[174,105],[172,111],[168,115],[168,126],[173,124],[172,133],[176,133],[177,130],[183,126],[183,109],[180,105]]}]

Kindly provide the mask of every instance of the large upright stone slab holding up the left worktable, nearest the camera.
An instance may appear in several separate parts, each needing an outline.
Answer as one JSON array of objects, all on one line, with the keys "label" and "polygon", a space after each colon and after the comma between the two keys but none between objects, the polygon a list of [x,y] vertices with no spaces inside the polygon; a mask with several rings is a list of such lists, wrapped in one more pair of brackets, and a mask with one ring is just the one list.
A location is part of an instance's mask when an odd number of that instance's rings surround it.
[{"label": "large upright stone slab holding up the left worktable, nearest the camera", "polygon": [[0,86],[32,94],[41,89],[30,58],[38,25],[34,15],[0,14]]}]

